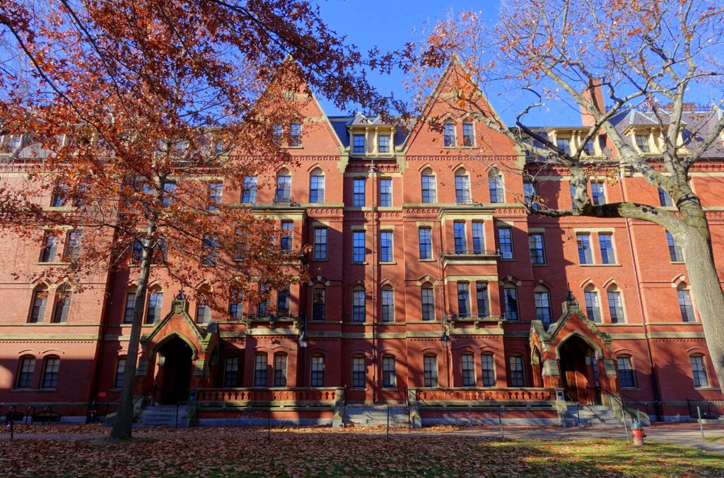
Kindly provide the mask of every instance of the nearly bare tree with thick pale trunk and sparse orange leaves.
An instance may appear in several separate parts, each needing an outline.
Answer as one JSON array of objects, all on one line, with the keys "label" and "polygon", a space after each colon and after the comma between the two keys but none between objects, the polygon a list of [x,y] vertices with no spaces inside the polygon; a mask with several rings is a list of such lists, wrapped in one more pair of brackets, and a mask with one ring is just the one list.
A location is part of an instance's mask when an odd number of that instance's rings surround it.
[{"label": "nearly bare tree with thick pale trunk and sparse orange leaves", "polygon": [[[535,198],[529,198],[529,214],[643,219],[670,232],[683,249],[712,362],[724,383],[724,293],[707,212],[689,182],[697,163],[724,157],[721,2],[510,0],[500,10],[497,25],[466,12],[432,26],[420,45],[408,45],[405,58],[411,60],[413,83],[424,92],[433,84],[432,75],[460,54],[469,75],[458,77],[450,108],[478,114],[543,171],[568,171],[575,207],[534,206]],[[506,110],[516,104],[505,104],[505,98],[527,98],[522,106],[517,103],[513,125],[477,101],[481,90],[503,89],[506,93],[497,99]],[[708,112],[689,114],[694,102],[706,103]],[[584,117],[583,137],[572,148],[559,147],[544,128],[532,124],[536,114],[543,117],[560,105],[580,109]],[[617,127],[631,112],[646,112],[651,119],[657,154],[636,146]],[[610,151],[605,161],[587,151],[594,141],[605,141]],[[612,181],[628,170],[641,175],[670,196],[675,211],[657,204],[594,204],[587,185],[602,168],[613,172]]]}]

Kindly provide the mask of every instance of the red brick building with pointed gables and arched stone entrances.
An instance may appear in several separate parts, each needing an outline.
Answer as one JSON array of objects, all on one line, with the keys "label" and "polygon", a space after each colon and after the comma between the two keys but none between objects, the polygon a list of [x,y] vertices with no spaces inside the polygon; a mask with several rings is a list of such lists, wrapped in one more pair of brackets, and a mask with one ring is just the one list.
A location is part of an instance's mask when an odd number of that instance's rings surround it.
[{"label": "red brick building with pointed gables and arched stone entrances", "polygon": [[[313,279],[274,291],[269,303],[230,298],[221,314],[174,300],[179,285],[155,268],[139,406],[190,398],[195,419],[209,424],[266,417],[269,407],[277,419],[330,423],[355,403],[401,404],[417,424],[497,420],[500,406],[511,421],[557,423],[570,403],[623,402],[668,420],[688,418],[696,404],[717,414],[722,393],[678,246],[648,222],[527,215],[521,201],[531,197],[571,207],[565,171],[542,170],[448,106],[458,68],[408,129],[327,117],[298,93],[294,164],[218,193],[277,218],[290,231],[278,247]],[[445,121],[431,127],[433,117]],[[645,114],[619,124],[655,159]],[[582,137],[580,127],[546,133],[564,148]],[[18,136],[2,141],[1,180],[22,188],[30,150]],[[602,164],[589,186],[594,202],[671,206],[607,163],[616,153],[605,138],[585,151]],[[724,264],[724,157],[708,159],[691,181]],[[67,421],[103,416],[119,396],[135,274],[98,272],[77,293],[64,280],[25,280],[63,267],[72,238],[51,246],[39,255],[41,245],[0,244],[0,403],[30,414],[51,407]]]}]

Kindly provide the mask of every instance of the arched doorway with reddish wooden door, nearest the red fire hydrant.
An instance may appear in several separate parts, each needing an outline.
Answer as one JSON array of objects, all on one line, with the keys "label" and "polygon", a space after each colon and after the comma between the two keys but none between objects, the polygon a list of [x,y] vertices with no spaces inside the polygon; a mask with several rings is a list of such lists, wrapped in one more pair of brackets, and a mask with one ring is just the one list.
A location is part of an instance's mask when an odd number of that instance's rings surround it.
[{"label": "arched doorway with reddish wooden door, nearest the red fire hydrant", "polygon": [[600,405],[596,354],[580,337],[571,337],[558,349],[566,400]]}]

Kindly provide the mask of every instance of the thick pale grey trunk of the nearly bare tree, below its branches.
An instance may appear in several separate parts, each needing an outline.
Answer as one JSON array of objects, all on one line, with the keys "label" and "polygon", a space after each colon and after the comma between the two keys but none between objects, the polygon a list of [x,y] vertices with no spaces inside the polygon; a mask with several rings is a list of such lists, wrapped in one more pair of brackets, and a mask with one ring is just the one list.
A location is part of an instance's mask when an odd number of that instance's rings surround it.
[{"label": "thick pale grey trunk of the nearly bare tree, below its branches", "polygon": [[[689,226],[681,238],[674,236],[681,244],[689,272],[691,290],[694,293],[696,309],[702,319],[704,337],[707,340],[710,358],[714,364],[719,386],[724,384],[724,292],[717,274],[709,238],[709,229],[704,222],[701,227]],[[710,377],[710,385],[714,386]]]}]

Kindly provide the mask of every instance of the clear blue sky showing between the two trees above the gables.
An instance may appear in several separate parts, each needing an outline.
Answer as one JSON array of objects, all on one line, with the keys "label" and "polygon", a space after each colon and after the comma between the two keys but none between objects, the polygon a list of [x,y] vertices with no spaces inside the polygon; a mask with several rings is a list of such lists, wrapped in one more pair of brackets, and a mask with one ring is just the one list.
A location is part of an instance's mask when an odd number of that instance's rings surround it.
[{"label": "clear blue sky showing between the two trees above the gables", "polygon": [[[434,24],[445,19],[448,12],[456,17],[460,12],[473,10],[494,20],[498,7],[497,0],[317,0],[316,3],[322,20],[340,35],[346,35],[348,43],[356,45],[362,53],[373,46],[379,46],[381,51],[401,49],[406,42],[420,38],[413,35],[413,29],[425,22]],[[395,96],[408,99],[403,79],[399,72],[369,77],[380,93],[394,91]],[[334,109],[324,98],[319,99],[327,114],[346,114]]]}]

